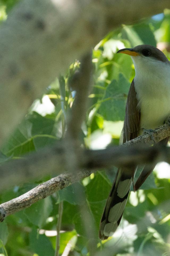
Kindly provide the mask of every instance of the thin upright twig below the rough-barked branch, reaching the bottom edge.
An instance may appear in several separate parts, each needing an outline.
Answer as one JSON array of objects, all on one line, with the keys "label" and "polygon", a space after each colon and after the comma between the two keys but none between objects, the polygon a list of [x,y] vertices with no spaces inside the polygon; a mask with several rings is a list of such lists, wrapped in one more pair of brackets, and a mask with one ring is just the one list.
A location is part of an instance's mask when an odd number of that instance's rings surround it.
[{"label": "thin upright twig below the rough-barked branch, reaching the bottom edge", "polygon": [[58,256],[59,250],[60,250],[60,230],[61,230],[62,214],[63,214],[63,201],[61,201],[58,206],[58,221],[56,226],[56,230],[57,230],[56,250],[55,250],[54,256]]}]

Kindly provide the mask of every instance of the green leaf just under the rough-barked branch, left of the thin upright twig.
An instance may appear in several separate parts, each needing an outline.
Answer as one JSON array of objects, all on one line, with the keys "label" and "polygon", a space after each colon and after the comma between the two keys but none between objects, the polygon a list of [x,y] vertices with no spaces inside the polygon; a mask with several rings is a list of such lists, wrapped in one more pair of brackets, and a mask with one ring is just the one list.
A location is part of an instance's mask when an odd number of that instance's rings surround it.
[{"label": "green leaf just under the rough-barked branch, left of the thin upright twig", "polygon": [[31,223],[42,228],[45,225],[46,219],[49,217],[52,209],[53,206],[51,198],[46,197],[25,209],[24,214]]}]

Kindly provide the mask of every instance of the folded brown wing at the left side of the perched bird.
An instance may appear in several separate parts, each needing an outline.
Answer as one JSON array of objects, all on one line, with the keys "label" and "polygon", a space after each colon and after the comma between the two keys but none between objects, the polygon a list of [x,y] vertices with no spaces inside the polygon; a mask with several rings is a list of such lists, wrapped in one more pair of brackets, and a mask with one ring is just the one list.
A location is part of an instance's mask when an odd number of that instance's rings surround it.
[{"label": "folded brown wing at the left side of the perched bird", "polygon": [[128,93],[125,111],[125,121],[123,127],[123,143],[138,137],[140,130],[141,112],[138,109],[138,100],[134,87],[134,80]]}]

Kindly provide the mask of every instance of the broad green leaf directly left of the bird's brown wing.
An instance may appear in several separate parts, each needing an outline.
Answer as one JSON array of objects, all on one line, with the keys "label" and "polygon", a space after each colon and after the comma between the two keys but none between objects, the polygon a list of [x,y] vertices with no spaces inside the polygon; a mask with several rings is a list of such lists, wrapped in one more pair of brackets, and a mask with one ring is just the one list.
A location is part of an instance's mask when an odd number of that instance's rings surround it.
[{"label": "broad green leaf directly left of the bird's brown wing", "polygon": [[107,87],[104,102],[101,103],[99,114],[107,121],[124,120],[126,97],[129,91],[130,83],[119,74],[118,81],[113,80]]}]

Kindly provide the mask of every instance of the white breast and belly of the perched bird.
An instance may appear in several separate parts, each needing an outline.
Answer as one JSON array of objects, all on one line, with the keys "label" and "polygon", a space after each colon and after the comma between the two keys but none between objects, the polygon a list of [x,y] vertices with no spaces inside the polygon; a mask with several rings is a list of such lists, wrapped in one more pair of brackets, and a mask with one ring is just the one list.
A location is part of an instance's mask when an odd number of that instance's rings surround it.
[{"label": "white breast and belly of the perched bird", "polygon": [[170,64],[141,56],[132,59],[136,72],[134,86],[141,110],[140,126],[155,129],[170,116]]}]

